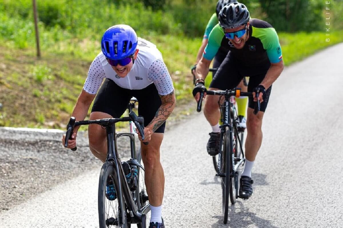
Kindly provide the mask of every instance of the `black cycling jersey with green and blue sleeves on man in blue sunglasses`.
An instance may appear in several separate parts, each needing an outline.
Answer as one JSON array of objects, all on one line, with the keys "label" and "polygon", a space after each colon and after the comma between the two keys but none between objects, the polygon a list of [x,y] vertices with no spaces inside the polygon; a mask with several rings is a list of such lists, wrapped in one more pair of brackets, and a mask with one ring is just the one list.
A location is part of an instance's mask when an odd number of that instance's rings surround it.
[{"label": "black cycling jersey with green and blue sleeves on man in blue sunglasses", "polygon": [[275,29],[259,19],[250,19],[249,39],[243,49],[236,49],[225,37],[224,30],[217,24],[212,29],[203,57],[212,60],[219,49],[230,51],[230,55],[243,65],[278,63],[282,60],[279,37]]}]

